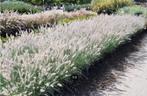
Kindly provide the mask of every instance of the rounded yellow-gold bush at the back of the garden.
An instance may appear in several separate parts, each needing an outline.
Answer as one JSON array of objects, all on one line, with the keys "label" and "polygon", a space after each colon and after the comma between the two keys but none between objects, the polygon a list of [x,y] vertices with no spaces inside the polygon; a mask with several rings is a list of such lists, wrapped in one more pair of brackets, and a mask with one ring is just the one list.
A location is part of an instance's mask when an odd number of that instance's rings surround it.
[{"label": "rounded yellow-gold bush at the back of the garden", "polygon": [[132,4],[132,0],[92,0],[91,6],[98,14],[115,12],[118,8]]}]

